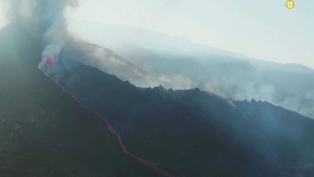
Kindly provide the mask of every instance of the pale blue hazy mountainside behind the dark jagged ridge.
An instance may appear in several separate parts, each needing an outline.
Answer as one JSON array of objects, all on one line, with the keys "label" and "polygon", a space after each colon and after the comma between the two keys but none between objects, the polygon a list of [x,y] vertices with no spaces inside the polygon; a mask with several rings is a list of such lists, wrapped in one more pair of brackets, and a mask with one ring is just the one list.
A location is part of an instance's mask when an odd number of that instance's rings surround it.
[{"label": "pale blue hazy mountainside behind the dark jagged ridge", "polygon": [[267,100],[314,117],[314,70],[306,66],[252,59],[182,37],[127,26],[71,17],[67,21],[72,33],[113,50],[157,78],[138,80],[127,75],[129,78],[121,77],[122,80],[141,87],[158,83],[174,89],[199,87],[234,100]]}]

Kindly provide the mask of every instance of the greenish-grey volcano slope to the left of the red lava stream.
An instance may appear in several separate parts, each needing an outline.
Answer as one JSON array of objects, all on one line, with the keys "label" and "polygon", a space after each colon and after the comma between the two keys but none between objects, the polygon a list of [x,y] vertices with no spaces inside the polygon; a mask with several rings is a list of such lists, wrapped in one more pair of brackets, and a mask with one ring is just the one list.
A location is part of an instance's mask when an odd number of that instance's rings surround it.
[{"label": "greenish-grey volcano slope to the left of the red lava stream", "polygon": [[100,117],[37,68],[41,52],[21,26],[0,31],[0,173],[160,176],[125,154]]}]

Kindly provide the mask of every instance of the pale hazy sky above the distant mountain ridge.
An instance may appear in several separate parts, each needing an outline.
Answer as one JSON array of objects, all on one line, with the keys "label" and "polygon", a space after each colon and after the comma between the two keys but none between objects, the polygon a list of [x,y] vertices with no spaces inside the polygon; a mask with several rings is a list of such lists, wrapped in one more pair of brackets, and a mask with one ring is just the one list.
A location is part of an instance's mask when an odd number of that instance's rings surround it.
[{"label": "pale hazy sky above the distant mountain ridge", "polygon": [[[67,15],[132,26],[280,63],[314,68],[314,1],[79,0]],[[3,11],[0,7],[0,12]],[[0,27],[5,24],[0,15]]]}]

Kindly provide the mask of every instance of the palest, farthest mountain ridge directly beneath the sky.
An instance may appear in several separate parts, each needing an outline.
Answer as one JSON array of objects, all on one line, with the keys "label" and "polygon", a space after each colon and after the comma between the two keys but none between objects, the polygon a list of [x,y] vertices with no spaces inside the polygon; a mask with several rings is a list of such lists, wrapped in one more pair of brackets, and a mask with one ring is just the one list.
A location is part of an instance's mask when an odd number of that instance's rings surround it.
[{"label": "palest, farthest mountain ridge directly beneath the sky", "polygon": [[[71,32],[80,35],[80,37],[82,37],[84,40],[110,49],[119,47],[122,44],[127,44],[136,45],[138,47],[146,48],[154,52],[174,52],[179,54],[188,54],[191,56],[194,56],[195,54],[211,54],[213,56],[216,55],[230,57],[238,60],[245,59],[262,61],[267,63],[276,63],[273,61],[255,59],[244,54],[238,54],[215,47],[209,47],[206,45],[193,43],[184,37],[170,36],[155,31],[139,30],[130,26],[112,25],[101,22],[80,20],[70,16],[66,16],[66,19],[69,23],[68,29]],[[85,27],[81,24],[84,24]],[[94,26],[97,26],[97,28],[95,28]],[[93,34],[87,33],[90,31],[93,31]],[[98,36],[98,38],[95,38],[95,36]],[[118,38],[118,36],[120,37]],[[313,68],[301,64],[276,64],[288,66],[294,65],[302,68],[303,70],[313,71]]]}]

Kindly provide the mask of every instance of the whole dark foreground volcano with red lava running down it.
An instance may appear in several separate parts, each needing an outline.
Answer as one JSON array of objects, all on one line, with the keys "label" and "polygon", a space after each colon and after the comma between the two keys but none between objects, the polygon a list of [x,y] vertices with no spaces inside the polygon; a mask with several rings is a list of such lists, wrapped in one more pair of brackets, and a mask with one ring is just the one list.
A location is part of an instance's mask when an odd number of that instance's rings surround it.
[{"label": "whole dark foreground volcano with red lava running down it", "polygon": [[139,88],[79,62],[90,55],[77,47],[38,68],[40,39],[12,24],[0,39],[6,176],[314,175],[309,117],[198,88]]}]

